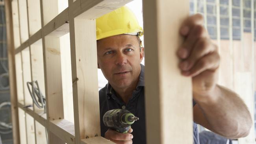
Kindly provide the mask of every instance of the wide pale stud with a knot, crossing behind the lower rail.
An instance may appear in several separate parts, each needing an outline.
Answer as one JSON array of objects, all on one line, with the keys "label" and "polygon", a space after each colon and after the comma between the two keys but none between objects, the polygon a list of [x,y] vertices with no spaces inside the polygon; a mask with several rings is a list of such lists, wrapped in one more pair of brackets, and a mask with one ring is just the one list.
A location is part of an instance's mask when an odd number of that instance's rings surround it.
[{"label": "wide pale stud with a knot, crossing behind the lower rail", "polygon": [[[45,90],[47,120],[64,118],[62,81],[61,81],[61,57],[58,37],[45,37]],[[49,132],[49,144],[64,144],[52,132]]]}]

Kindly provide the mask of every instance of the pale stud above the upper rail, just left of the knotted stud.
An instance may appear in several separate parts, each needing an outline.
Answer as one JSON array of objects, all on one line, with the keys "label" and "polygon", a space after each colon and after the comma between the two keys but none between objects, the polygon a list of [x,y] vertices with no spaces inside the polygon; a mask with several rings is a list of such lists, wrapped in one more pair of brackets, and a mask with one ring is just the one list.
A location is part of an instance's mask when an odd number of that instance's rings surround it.
[{"label": "pale stud above the upper rail, just left of the knotted stud", "polygon": [[30,36],[41,29],[40,0],[28,0],[28,24]]}]

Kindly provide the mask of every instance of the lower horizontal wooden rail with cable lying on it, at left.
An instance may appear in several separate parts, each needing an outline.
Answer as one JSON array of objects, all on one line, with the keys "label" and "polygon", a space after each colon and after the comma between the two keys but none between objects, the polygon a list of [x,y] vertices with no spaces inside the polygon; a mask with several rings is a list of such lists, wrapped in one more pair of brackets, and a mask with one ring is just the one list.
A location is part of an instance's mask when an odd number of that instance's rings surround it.
[{"label": "lower horizontal wooden rail with cable lying on it, at left", "polygon": [[39,122],[50,132],[54,133],[54,135],[59,137],[61,140],[67,142],[68,144],[75,144],[74,123],[65,119],[47,121],[46,113],[35,113],[30,107],[24,108],[24,105],[21,103],[18,103],[18,107],[25,113],[32,116],[37,122]]}]

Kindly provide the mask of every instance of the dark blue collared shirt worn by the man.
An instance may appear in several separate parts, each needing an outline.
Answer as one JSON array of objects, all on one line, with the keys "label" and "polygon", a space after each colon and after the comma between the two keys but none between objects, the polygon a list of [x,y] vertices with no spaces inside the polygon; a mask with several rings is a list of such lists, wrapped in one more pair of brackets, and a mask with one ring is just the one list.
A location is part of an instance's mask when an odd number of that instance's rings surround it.
[{"label": "dark blue collared shirt worn by the man", "polygon": [[[132,139],[133,144],[146,144],[146,126],[145,126],[145,100],[144,100],[144,70],[145,66],[141,65],[141,73],[139,75],[139,81],[136,89],[132,93],[132,97],[125,104],[121,98],[117,97],[115,90],[108,83],[104,88],[99,91],[100,96],[100,130],[101,136],[104,137],[105,132],[108,130],[103,124],[103,115],[111,109],[127,109],[135,116],[139,117],[139,120],[132,124]],[[195,105],[195,102],[193,102]],[[194,130],[194,144],[199,144],[197,124],[193,124]]]}]

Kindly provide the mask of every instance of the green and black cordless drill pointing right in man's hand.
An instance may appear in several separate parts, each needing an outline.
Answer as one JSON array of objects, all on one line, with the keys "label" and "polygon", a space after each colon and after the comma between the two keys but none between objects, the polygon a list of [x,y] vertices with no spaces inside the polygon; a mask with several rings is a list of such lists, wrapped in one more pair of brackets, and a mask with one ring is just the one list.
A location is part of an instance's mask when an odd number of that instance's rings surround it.
[{"label": "green and black cordless drill pointing right in man's hand", "polygon": [[126,109],[112,109],[103,116],[104,125],[120,133],[127,133],[136,120],[139,118]]}]

